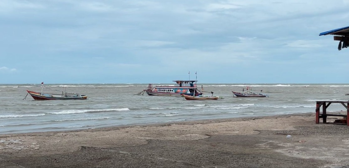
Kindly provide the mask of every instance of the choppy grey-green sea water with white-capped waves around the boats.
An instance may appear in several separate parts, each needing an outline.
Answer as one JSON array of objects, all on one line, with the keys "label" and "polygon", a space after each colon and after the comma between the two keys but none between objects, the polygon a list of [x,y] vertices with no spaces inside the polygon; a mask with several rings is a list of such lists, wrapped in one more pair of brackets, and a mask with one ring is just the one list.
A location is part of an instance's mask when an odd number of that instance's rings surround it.
[{"label": "choppy grey-green sea water with white-capped waves around the boats", "polygon": [[[154,84],[173,85],[173,84]],[[134,96],[148,84],[45,84],[54,90],[86,94],[87,100],[34,100],[28,84],[0,84],[0,134],[93,129],[203,119],[315,113],[316,101],[348,101],[349,84],[246,84],[264,98],[241,98],[244,84],[200,84],[218,100],[184,100],[177,96]],[[53,90],[52,90],[53,89]],[[199,90],[201,88],[199,87]],[[211,95],[210,93],[205,93]],[[205,95],[204,94],[204,95]],[[26,97],[27,96],[27,97]],[[25,98],[25,99],[24,99]],[[327,111],[346,110],[332,104]]]}]

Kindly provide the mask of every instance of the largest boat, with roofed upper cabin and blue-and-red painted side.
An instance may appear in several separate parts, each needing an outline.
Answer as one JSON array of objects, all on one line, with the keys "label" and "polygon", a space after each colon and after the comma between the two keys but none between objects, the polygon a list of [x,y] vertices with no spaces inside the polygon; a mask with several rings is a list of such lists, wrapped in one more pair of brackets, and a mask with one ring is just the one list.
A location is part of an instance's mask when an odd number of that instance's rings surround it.
[{"label": "largest boat, with roofed upper cabin and blue-and-red painted side", "polygon": [[181,96],[182,94],[188,96],[200,96],[202,92],[198,90],[197,81],[173,81],[173,86],[153,86],[149,84],[147,89],[143,91],[149,96]]}]

